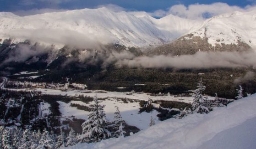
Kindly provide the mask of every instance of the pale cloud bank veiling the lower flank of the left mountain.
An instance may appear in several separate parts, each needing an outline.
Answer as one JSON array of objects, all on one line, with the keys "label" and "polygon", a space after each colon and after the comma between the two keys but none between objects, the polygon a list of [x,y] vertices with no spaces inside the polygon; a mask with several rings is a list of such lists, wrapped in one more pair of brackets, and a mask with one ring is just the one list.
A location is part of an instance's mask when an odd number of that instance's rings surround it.
[{"label": "pale cloud bank veiling the lower flank of the left mountain", "polygon": [[102,34],[97,36],[89,31],[82,34],[62,29],[21,29],[8,31],[6,35],[10,38],[60,46],[69,45],[76,48],[99,48],[99,45],[113,43],[111,37]]}]

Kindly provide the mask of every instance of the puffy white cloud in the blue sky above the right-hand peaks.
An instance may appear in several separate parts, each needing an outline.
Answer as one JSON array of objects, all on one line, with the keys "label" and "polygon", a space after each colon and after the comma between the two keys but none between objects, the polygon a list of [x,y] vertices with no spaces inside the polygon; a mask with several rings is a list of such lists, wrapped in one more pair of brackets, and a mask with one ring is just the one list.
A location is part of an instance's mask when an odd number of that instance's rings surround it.
[{"label": "puffy white cloud in the blue sky above the right-hand peaks", "polygon": [[[167,10],[156,10],[151,13],[154,17],[163,17],[169,14],[177,15],[182,18],[203,20],[214,15],[231,13],[234,11],[250,11],[256,9],[254,5],[248,5],[245,8],[239,6],[230,6],[226,3],[192,4],[186,7],[185,5],[173,5]],[[207,16],[206,16],[207,15]]]}]

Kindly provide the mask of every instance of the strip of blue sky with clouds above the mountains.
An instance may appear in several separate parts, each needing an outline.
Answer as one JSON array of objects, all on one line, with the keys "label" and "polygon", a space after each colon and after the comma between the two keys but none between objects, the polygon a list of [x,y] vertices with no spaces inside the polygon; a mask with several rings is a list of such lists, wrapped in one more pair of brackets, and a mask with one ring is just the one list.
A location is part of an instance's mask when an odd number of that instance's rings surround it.
[{"label": "strip of blue sky with clouds above the mountains", "polygon": [[236,10],[252,10],[256,0],[0,0],[0,12],[21,16],[103,6],[113,11],[146,11],[155,18],[173,14],[206,19]]}]

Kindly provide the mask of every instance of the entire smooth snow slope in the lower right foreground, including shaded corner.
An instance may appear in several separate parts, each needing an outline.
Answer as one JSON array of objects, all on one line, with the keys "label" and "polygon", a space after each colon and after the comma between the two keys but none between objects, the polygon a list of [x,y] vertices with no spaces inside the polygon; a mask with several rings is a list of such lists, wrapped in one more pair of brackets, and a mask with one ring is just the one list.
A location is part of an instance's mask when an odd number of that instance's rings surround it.
[{"label": "entire smooth snow slope in the lower right foreground, including shaded corner", "polygon": [[125,139],[69,149],[255,149],[256,94],[208,114],[168,119]]}]

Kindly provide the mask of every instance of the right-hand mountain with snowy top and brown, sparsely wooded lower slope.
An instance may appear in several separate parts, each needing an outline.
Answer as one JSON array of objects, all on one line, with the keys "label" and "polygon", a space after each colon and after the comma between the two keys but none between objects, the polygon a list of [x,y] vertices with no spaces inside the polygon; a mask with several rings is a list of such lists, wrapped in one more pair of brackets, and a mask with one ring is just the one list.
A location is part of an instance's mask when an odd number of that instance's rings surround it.
[{"label": "right-hand mountain with snowy top and brown, sparsely wooded lower slope", "polygon": [[253,10],[214,16],[187,35],[149,53],[182,55],[197,51],[244,51],[255,47],[256,11]]}]

